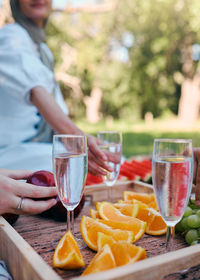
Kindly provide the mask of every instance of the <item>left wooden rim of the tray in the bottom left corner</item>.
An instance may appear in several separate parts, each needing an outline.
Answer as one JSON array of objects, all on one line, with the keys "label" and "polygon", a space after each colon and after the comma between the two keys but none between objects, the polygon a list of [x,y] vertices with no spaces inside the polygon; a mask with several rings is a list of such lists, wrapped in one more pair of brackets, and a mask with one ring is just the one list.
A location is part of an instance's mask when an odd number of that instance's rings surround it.
[{"label": "left wooden rim of the tray in the bottom left corner", "polygon": [[0,216],[0,259],[15,280],[61,280],[20,234]]}]

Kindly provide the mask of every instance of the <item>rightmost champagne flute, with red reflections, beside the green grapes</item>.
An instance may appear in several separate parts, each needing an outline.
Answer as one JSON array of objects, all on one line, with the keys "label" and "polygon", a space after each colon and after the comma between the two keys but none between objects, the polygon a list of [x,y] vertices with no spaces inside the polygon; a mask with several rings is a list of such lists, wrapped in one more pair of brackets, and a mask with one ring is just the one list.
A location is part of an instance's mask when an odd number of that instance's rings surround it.
[{"label": "rightmost champagne flute, with red reflections, beside the green grapes", "polygon": [[152,175],[158,208],[167,225],[166,251],[172,251],[175,225],[184,214],[192,189],[192,140],[155,139]]}]

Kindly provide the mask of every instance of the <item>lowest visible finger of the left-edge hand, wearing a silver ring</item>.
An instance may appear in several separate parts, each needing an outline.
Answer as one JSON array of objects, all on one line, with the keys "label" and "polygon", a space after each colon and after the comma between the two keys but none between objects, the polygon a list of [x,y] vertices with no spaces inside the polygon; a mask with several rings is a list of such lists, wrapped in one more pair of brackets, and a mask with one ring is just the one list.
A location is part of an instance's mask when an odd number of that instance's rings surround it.
[{"label": "lowest visible finger of the left-edge hand, wearing a silver ring", "polygon": [[21,206],[21,210],[16,209],[16,213],[18,214],[39,214],[42,213],[51,207],[53,207],[57,203],[56,199],[48,199],[48,200],[32,200],[29,198],[23,199],[23,204]]}]

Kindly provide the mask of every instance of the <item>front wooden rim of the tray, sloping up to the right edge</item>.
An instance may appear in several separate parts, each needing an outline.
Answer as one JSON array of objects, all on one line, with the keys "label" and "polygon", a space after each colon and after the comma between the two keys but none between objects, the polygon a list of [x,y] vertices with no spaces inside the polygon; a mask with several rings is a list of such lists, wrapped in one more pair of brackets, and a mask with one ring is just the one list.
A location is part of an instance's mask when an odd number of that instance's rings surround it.
[{"label": "front wooden rim of the tray, sloping up to the right edge", "polygon": [[[82,276],[82,280],[156,280],[169,273],[200,264],[200,244],[179,249],[174,252],[151,257],[134,264],[129,264],[101,273]],[[80,280],[75,277],[73,280]]]}]

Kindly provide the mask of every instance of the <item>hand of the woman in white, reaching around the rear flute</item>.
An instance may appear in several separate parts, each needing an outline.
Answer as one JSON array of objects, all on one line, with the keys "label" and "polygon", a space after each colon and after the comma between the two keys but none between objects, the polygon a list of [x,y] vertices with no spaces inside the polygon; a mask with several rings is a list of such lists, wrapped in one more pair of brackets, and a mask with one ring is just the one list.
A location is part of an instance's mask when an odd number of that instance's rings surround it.
[{"label": "hand of the woman in white, reaching around the rear flute", "polygon": [[91,135],[87,135],[88,145],[88,171],[96,176],[106,175],[107,171],[112,172],[112,168],[106,163],[107,155],[98,147],[99,140]]}]

